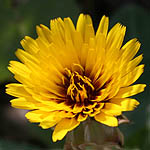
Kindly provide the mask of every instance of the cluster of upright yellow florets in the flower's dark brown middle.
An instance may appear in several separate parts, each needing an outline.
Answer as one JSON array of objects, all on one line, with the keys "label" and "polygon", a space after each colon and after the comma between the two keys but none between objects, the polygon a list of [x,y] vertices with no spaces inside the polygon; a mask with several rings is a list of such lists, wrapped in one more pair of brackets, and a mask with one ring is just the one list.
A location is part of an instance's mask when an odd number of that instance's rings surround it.
[{"label": "cluster of upright yellow florets in the flower's dark brown middle", "polygon": [[91,93],[94,91],[94,86],[91,80],[80,75],[78,72],[69,72],[68,77],[70,79],[69,86],[67,89],[67,95],[72,101],[83,104],[85,100],[89,100],[92,96]]}]

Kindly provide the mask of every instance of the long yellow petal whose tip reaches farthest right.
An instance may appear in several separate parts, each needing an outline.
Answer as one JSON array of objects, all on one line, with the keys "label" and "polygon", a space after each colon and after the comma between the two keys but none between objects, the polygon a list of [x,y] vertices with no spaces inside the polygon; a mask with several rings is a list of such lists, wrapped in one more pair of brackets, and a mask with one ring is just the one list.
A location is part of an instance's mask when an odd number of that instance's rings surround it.
[{"label": "long yellow petal whose tip reaches farthest right", "polygon": [[115,98],[125,98],[132,95],[136,95],[138,93],[143,92],[145,87],[145,84],[136,84],[133,86],[121,88],[115,96]]}]

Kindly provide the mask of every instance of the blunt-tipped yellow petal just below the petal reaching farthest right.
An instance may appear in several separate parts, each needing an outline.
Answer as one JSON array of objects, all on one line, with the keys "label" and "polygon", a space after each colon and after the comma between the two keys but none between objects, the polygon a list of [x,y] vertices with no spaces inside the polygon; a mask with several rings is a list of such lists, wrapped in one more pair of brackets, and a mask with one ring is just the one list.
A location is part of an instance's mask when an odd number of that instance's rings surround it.
[{"label": "blunt-tipped yellow petal just below the petal reaching farthest right", "polygon": [[122,111],[132,111],[139,105],[139,102],[131,98],[113,98],[111,103],[121,106]]}]

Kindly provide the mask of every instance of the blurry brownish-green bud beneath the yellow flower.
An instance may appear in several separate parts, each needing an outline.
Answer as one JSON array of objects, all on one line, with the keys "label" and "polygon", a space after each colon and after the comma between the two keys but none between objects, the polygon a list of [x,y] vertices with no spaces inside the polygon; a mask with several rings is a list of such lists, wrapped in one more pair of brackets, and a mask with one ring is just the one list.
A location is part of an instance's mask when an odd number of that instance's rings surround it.
[{"label": "blurry brownish-green bud beneath the yellow flower", "polygon": [[64,150],[120,150],[123,144],[119,128],[88,118],[67,134]]}]

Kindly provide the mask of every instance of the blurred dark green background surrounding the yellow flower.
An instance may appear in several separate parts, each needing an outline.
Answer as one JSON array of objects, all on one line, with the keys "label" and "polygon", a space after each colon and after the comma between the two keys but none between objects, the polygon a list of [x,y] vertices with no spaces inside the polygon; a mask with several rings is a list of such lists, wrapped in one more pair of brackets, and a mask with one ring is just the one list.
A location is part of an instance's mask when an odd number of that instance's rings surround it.
[{"label": "blurred dark green background surrounding the yellow flower", "polygon": [[[21,48],[25,35],[36,38],[35,26],[56,17],[71,17],[76,23],[83,12],[93,18],[97,28],[102,15],[110,17],[110,27],[120,22],[127,26],[125,42],[137,37],[142,43],[138,54],[144,54],[145,72],[137,81],[150,84],[150,1],[148,0],[0,0],[0,150],[61,149],[64,140],[51,141],[51,129],[42,130],[25,119],[25,110],[10,107],[12,97],[5,94],[5,85],[14,81],[8,72],[9,60]],[[147,87],[135,96],[141,105],[125,113],[131,120],[121,125],[125,135],[125,148],[148,150],[150,148],[150,89]]]}]

